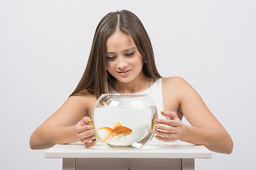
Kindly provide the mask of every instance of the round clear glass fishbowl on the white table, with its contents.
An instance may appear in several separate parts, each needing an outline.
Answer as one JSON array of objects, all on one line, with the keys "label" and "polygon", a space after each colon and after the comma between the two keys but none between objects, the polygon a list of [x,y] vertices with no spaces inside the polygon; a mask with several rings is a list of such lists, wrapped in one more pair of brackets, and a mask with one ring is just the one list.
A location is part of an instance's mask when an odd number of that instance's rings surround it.
[{"label": "round clear glass fishbowl on the white table, with its contents", "polygon": [[97,140],[113,148],[140,148],[154,136],[156,106],[147,94],[102,94],[92,112]]}]

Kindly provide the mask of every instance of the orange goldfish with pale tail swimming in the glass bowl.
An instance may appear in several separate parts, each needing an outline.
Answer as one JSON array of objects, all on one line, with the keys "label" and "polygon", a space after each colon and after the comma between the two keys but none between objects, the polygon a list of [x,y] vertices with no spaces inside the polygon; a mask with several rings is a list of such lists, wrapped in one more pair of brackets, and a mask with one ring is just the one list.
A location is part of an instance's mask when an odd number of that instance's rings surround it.
[{"label": "orange goldfish with pale tail swimming in the glass bowl", "polygon": [[120,141],[121,137],[125,137],[126,135],[130,135],[132,133],[132,130],[122,126],[119,122],[115,123],[115,125],[112,128],[104,127],[104,128],[98,128],[97,130],[107,130],[107,135],[105,139],[102,140],[102,143],[109,142],[114,137],[117,137],[117,140]]}]

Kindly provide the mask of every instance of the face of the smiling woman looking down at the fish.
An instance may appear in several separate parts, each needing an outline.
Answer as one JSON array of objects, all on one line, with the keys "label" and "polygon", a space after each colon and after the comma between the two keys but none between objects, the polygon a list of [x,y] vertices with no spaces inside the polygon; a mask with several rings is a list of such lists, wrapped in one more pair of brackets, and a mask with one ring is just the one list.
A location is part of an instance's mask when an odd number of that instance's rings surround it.
[{"label": "face of the smiling woman looking down at the fish", "polygon": [[123,83],[139,79],[143,60],[132,36],[116,31],[107,38],[106,67],[114,78]]}]

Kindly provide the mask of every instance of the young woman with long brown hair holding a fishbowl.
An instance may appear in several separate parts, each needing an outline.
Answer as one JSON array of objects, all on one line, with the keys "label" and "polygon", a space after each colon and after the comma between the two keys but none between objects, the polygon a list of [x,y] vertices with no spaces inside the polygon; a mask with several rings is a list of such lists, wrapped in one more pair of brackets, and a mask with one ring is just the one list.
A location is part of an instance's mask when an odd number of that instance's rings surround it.
[{"label": "young woman with long brown hair holding a fishbowl", "polygon": [[[161,111],[157,140],[181,140],[225,154],[233,150],[230,135],[198,93],[181,77],[160,76],[142,22],[125,10],[102,18],[82,79],[63,106],[33,132],[31,149],[78,141],[95,145],[90,118],[97,98],[105,93],[149,94]],[[181,122],[183,116],[191,126]]]}]

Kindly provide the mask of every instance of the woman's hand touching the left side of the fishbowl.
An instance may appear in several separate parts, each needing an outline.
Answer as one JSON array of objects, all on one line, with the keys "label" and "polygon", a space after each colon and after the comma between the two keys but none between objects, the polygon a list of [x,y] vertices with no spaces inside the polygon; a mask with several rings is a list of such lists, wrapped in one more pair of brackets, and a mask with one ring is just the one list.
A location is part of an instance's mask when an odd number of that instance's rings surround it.
[{"label": "woman's hand touching the left side of the fishbowl", "polygon": [[85,147],[92,147],[97,142],[95,140],[95,132],[93,132],[92,128],[92,120],[88,116],[82,118],[75,125],[75,135],[85,144]]}]

